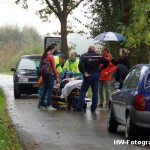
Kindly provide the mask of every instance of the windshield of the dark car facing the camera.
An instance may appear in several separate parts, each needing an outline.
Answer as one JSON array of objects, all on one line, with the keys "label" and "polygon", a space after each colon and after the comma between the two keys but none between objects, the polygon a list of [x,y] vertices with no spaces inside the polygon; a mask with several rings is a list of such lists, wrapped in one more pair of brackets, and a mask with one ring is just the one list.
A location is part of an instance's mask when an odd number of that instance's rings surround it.
[{"label": "windshield of the dark car facing the camera", "polygon": [[18,65],[18,70],[35,70],[39,61],[39,58],[22,58]]}]

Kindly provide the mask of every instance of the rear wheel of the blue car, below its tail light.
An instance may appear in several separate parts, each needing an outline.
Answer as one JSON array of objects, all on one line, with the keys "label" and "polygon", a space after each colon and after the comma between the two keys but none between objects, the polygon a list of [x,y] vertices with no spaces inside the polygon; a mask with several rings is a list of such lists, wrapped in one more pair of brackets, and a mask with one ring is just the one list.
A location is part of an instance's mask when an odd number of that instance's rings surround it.
[{"label": "rear wheel of the blue car, below its tail light", "polygon": [[130,114],[127,115],[125,129],[125,139],[133,140],[137,133],[137,127],[132,123]]}]

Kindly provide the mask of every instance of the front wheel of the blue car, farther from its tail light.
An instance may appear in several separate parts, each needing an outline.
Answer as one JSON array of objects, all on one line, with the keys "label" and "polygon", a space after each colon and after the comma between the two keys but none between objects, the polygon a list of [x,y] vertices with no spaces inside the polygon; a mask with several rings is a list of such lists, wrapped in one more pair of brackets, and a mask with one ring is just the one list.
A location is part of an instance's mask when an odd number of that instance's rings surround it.
[{"label": "front wheel of the blue car, farther from its tail light", "polygon": [[118,128],[118,123],[114,119],[114,115],[112,113],[112,109],[109,109],[108,113],[108,122],[107,122],[107,129],[110,133],[116,133]]}]

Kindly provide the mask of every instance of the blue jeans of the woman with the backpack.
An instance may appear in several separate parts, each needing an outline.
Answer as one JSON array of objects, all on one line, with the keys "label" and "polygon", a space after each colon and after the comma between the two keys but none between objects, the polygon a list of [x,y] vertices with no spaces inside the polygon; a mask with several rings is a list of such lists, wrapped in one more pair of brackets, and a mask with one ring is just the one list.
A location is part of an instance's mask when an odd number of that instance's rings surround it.
[{"label": "blue jeans of the woman with the backpack", "polygon": [[47,106],[51,105],[51,97],[52,97],[52,92],[54,87],[54,80],[55,80],[54,75],[43,76],[44,91],[41,96],[40,106],[44,106],[44,100],[46,96],[47,96]]}]

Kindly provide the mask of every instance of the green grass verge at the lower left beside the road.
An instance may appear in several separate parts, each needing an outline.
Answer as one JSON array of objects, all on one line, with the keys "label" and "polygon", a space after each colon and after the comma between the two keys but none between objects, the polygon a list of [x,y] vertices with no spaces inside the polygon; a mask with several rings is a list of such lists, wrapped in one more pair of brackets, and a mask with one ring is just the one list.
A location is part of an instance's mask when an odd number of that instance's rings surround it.
[{"label": "green grass verge at the lower left beside the road", "polygon": [[0,150],[22,150],[6,107],[6,99],[0,89]]}]

